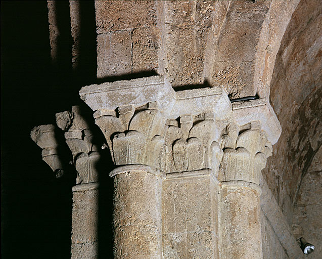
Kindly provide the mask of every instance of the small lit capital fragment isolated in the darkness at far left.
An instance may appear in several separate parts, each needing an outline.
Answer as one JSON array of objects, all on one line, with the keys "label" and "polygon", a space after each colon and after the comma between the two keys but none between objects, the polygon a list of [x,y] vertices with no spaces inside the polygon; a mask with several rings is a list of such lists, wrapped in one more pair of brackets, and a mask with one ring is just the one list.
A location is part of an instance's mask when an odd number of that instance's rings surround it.
[{"label": "small lit capital fragment isolated in the darkness at far left", "polygon": [[55,138],[55,126],[52,124],[36,126],[32,129],[30,137],[42,148],[42,160],[52,168],[56,178],[62,177],[64,170],[57,152],[58,143]]}]

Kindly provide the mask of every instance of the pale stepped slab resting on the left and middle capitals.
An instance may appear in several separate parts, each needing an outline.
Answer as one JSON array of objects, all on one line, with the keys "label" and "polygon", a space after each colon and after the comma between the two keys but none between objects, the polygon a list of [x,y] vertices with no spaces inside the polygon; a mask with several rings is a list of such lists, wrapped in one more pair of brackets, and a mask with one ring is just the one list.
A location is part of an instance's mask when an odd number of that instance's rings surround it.
[{"label": "pale stepped slab resting on the left and middle capitals", "polygon": [[[163,85],[162,89],[160,89],[161,84]],[[147,98],[146,96],[139,99],[137,99],[136,95],[134,97],[130,96],[130,93],[141,93],[145,87],[149,87],[149,91],[153,92],[155,100],[150,100],[150,98]],[[127,100],[127,97],[131,97],[132,101],[127,103],[127,105],[132,105],[134,108],[139,108],[151,101],[157,101],[160,105],[160,111],[166,113],[169,118],[172,118],[173,116],[177,118],[180,115],[188,113],[195,114],[196,109],[199,110],[200,106],[205,106],[202,105],[203,102],[209,104],[205,107],[207,110],[217,111],[218,104],[223,104],[223,108],[219,109],[220,113],[229,113],[232,110],[232,104],[228,99],[226,91],[222,87],[174,92],[171,84],[164,76],[150,76],[102,84],[91,84],[83,87],[79,91],[79,95],[94,111],[100,109],[115,110],[117,104],[113,100],[111,100],[112,102],[104,100],[104,102],[101,103],[102,100],[106,98],[105,94],[108,92],[115,92],[115,95],[119,92],[122,100]],[[182,107],[182,102],[188,102],[184,105],[185,109],[180,109],[180,107]],[[123,106],[125,104],[120,102],[118,105]],[[187,107],[190,107],[189,110],[186,110]],[[200,113],[202,112],[203,111],[200,111]]]}]

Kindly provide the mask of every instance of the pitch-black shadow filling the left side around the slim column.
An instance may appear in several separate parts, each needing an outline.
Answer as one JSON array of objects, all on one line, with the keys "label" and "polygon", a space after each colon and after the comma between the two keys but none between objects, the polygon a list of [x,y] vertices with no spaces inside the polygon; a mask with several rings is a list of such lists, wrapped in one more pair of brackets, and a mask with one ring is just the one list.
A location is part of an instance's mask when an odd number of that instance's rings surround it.
[{"label": "pitch-black shadow filling the left side around the slim column", "polygon": [[[55,113],[70,110],[72,105],[89,109],[81,102],[78,91],[83,85],[96,82],[94,1],[81,1],[80,63],[75,71],[71,67],[68,1],[56,1],[56,14],[60,36],[53,63],[47,2],[1,2],[1,203],[5,259],[70,258],[71,187],[75,184],[75,171],[67,165],[71,154],[58,130],[66,170],[62,178],[56,179],[41,160],[41,149],[31,140],[30,131],[36,125],[55,124]],[[111,159],[108,154],[106,157],[104,167],[109,171],[106,167]],[[100,200],[108,206],[106,211],[100,211],[100,232],[107,244],[102,254],[108,255],[112,243],[112,181],[106,172],[102,179],[107,190]]]}]

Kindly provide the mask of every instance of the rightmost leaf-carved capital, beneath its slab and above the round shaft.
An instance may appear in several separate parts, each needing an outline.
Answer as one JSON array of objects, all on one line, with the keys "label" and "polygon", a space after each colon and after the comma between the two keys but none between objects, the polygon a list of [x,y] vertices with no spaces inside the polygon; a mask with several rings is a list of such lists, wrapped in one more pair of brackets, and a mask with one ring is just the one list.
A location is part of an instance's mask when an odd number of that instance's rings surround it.
[{"label": "rightmost leaf-carved capital, beneath its slab and above the round shaft", "polygon": [[236,126],[231,136],[224,142],[223,157],[218,180],[245,181],[259,184],[260,171],[266,165],[266,158],[271,155],[272,147],[266,134],[261,130],[259,121],[252,121],[239,129]]}]

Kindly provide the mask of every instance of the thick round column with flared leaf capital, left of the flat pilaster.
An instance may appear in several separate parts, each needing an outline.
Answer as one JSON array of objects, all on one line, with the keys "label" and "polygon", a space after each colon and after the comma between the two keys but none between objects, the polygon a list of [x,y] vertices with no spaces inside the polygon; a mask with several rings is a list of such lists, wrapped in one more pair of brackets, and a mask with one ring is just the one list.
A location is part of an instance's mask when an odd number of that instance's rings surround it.
[{"label": "thick round column with flared leaf capital, left of the flat pilaster", "polygon": [[156,102],[135,111],[131,105],[96,112],[116,169],[114,178],[114,257],[161,258],[161,147],[165,118]]}]

